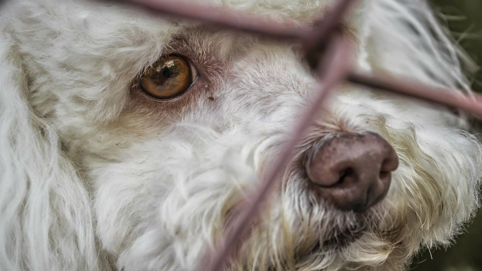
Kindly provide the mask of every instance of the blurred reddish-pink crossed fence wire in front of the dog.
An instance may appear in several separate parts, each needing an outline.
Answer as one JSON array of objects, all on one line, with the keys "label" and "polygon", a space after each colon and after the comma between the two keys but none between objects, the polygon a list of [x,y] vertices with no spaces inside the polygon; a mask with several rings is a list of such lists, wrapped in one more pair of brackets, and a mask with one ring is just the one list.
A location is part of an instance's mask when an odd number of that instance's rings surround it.
[{"label": "blurred reddish-pink crossed fence wire in front of the dog", "polygon": [[313,102],[306,106],[301,114],[302,118],[287,139],[286,148],[274,161],[273,167],[260,187],[240,208],[238,216],[233,220],[231,230],[221,237],[215,251],[208,255],[207,261],[201,263],[205,264],[200,265],[198,269],[209,271],[223,269],[242,242],[241,236],[248,233],[250,225],[262,211],[263,203],[275,185],[277,173],[283,171],[292,159],[296,146],[303,139],[314,117],[322,111],[324,101],[330,96],[332,90],[344,81],[458,108],[482,119],[482,97],[478,94],[468,97],[461,94],[461,91],[353,71],[351,65],[353,50],[350,48],[349,41],[343,38],[339,30],[343,25],[344,14],[355,2],[354,0],[339,0],[331,10],[326,12],[324,19],[314,27],[300,27],[290,22],[274,21],[242,12],[172,0],[115,0],[113,2],[131,5],[153,15],[174,16],[216,28],[228,28],[299,43],[304,48],[306,60],[315,70],[321,83],[320,91],[315,93]]}]

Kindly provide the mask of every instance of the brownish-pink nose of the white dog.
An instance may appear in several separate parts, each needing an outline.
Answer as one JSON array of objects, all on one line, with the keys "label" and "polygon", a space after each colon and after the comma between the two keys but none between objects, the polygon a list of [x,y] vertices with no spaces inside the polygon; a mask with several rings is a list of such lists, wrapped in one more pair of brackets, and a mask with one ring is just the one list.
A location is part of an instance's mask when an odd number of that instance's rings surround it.
[{"label": "brownish-pink nose of the white dog", "polygon": [[305,165],[313,187],[340,210],[365,211],[387,195],[395,150],[380,135],[342,134],[325,143]]}]

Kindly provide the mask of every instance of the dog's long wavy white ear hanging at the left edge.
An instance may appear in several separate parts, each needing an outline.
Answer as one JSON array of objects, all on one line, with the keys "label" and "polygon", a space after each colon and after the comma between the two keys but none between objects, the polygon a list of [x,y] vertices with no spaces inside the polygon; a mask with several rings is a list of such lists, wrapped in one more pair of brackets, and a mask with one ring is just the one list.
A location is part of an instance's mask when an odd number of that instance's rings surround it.
[{"label": "dog's long wavy white ear hanging at the left edge", "polygon": [[12,29],[0,29],[0,269],[93,270],[88,194],[56,131],[30,106]]}]

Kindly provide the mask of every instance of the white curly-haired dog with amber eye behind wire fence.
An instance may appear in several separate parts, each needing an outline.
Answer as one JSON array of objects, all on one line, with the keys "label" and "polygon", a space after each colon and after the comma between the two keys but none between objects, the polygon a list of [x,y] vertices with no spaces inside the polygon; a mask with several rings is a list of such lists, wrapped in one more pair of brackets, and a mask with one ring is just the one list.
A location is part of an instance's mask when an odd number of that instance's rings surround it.
[{"label": "white curly-haired dog with amber eye behind wire fence", "polygon": [[[202,4],[309,25],[330,3]],[[294,46],[128,7],[18,0],[0,18],[1,270],[200,269],[318,89]],[[425,3],[347,19],[359,69],[469,93]],[[465,122],[346,85],[227,269],[399,270],[449,244],[478,206]]]}]

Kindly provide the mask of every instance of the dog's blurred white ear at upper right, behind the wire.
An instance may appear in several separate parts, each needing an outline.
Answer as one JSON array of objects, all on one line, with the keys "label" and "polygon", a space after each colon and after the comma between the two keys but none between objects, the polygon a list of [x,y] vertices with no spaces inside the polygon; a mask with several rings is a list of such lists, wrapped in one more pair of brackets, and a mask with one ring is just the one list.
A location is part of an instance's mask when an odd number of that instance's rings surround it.
[{"label": "dog's blurred white ear at upper right, behind the wire", "polygon": [[[369,2],[362,43],[369,66],[433,85],[470,92],[462,66],[474,64],[450,38],[425,1]],[[463,63],[460,62],[463,60]],[[463,64],[463,65],[462,65]]]}]

